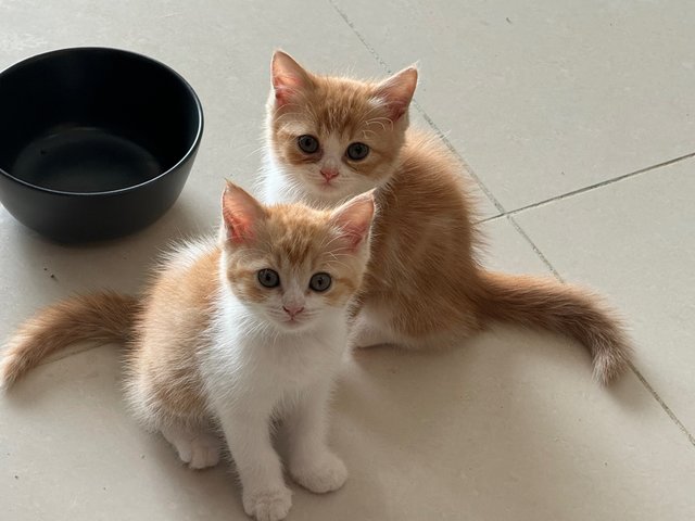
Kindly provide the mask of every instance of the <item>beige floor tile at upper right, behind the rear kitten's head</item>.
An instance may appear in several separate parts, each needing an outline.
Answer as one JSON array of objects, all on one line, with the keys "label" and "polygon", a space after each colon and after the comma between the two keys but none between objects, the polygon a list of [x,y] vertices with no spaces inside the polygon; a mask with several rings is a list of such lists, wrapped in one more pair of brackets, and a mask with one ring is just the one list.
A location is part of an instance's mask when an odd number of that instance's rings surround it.
[{"label": "beige floor tile at upper right, behind the rear kitten's head", "polygon": [[695,4],[333,0],[505,209],[695,152]]}]

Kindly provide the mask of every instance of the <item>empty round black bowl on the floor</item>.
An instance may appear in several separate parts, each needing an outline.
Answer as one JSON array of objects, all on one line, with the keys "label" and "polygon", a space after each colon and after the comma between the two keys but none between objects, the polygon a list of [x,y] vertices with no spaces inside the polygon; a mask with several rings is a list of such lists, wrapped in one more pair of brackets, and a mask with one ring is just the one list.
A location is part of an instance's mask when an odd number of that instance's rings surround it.
[{"label": "empty round black bowl on the floor", "polygon": [[0,73],[0,201],[59,242],[141,229],[176,201],[203,132],[186,80],[132,52],[77,48]]}]

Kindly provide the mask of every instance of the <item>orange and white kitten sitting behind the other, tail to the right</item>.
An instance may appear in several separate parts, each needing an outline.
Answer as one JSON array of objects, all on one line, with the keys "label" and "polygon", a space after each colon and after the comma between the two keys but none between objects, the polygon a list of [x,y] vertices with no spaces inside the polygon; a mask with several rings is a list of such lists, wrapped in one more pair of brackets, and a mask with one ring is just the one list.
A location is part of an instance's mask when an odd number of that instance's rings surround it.
[{"label": "orange and white kitten sitting behind the other, tail to the right", "polygon": [[596,295],[480,265],[463,166],[435,136],[408,129],[414,67],[357,81],[312,74],[277,51],[271,78],[265,202],[330,206],[377,189],[356,346],[448,346],[501,320],[583,343],[603,383],[628,367],[628,338]]}]

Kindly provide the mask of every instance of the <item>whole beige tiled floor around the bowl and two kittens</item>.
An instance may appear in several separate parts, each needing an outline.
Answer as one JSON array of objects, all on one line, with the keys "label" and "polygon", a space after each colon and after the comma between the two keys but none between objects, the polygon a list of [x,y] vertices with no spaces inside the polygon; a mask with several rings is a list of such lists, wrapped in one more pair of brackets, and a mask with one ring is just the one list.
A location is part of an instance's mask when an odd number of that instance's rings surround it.
[{"label": "whole beige tiled floor around the bowl and two kittens", "polygon": [[[599,289],[635,370],[601,389],[579,346],[503,328],[359,353],[331,433],[351,478],[295,488],[288,519],[695,519],[694,26],[686,0],[0,2],[0,67],[127,48],[206,115],[184,194],[139,234],[62,247],[0,208],[0,334],[76,290],[136,291],[166,243],[215,225],[223,178],[253,182],[274,48],[358,76],[419,61],[415,120],[470,165],[489,264]],[[85,348],[0,399],[0,519],[244,519],[226,469],[187,470],[127,416],[117,350]]]}]

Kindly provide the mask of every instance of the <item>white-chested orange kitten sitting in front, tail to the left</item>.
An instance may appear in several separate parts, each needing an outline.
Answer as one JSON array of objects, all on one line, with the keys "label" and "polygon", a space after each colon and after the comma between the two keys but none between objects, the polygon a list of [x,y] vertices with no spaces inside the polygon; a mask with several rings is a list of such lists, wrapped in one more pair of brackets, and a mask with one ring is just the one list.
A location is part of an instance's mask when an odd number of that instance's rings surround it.
[{"label": "white-chested orange kitten sitting in front, tail to the left", "polygon": [[127,341],[136,417],[193,469],[217,463],[222,430],[247,513],[283,519],[291,492],[271,445],[275,420],[298,483],[325,493],[348,475],[327,446],[327,403],[374,209],[370,193],[332,212],[264,207],[228,183],[217,241],[175,251],[142,300],[97,293],[39,313],[10,340],[2,382],[73,342]]}]

